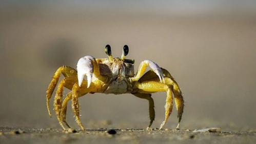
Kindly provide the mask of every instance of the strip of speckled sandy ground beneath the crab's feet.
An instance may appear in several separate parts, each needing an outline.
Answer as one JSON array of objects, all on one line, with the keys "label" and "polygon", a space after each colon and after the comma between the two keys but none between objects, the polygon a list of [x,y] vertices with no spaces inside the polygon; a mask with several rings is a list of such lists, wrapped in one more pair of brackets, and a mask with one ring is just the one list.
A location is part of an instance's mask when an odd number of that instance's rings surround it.
[{"label": "strip of speckled sandy ground beneath the crab's feet", "polygon": [[0,128],[0,143],[255,143],[256,141],[256,132],[193,131],[86,129],[86,131],[64,132],[61,129]]}]

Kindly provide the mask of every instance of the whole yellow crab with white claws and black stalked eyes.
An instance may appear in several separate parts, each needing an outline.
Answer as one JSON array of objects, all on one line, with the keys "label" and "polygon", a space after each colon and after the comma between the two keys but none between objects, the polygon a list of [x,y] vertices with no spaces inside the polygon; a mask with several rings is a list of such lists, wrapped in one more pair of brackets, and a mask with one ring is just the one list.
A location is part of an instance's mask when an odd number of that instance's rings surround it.
[{"label": "whole yellow crab with white claws and black stalked eyes", "polygon": [[[149,102],[150,118],[147,129],[150,129],[155,118],[154,101],[151,94],[162,91],[167,93],[167,97],[165,119],[160,129],[164,127],[172,112],[173,97],[178,111],[178,126],[176,129],[179,129],[184,109],[184,99],[179,85],[171,74],[151,60],[142,61],[137,73],[134,74],[134,60],[126,59],[129,52],[127,45],[123,47],[121,58],[112,56],[109,45],[106,45],[105,52],[108,58],[94,58],[89,55],[80,58],[77,62],[77,70],[69,66],[62,66],[56,70],[46,91],[46,103],[50,117],[49,101],[61,74],[63,74],[64,78],[60,81],[56,89],[53,106],[57,120],[64,130],[66,130],[64,124],[70,128],[66,122],[67,104],[69,100],[72,101],[75,121],[82,130],[85,130],[80,120],[78,97],[88,93],[130,93],[136,97],[147,99]],[[151,70],[145,73],[147,67],[151,68]],[[71,91],[63,100],[64,87]]]}]

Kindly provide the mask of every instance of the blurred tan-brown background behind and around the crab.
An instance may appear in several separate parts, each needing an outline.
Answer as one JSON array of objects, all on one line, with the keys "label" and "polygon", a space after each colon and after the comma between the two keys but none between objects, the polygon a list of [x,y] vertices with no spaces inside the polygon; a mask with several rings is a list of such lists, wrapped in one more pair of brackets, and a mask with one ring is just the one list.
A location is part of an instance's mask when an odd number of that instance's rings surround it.
[{"label": "blurred tan-brown background behind and around the crab", "polygon": [[[46,109],[55,70],[112,47],[171,72],[186,100],[182,129],[256,129],[256,1],[1,1],[0,127],[61,128]],[[65,93],[69,90],[65,90]],[[166,93],[153,94],[164,120]],[[131,94],[80,99],[86,128],[146,128],[148,102]],[[52,107],[51,99],[51,109]],[[53,111],[52,111],[53,112]],[[54,114],[54,112],[53,112]],[[75,124],[70,104],[67,121]],[[178,119],[173,110],[166,128]]]}]

